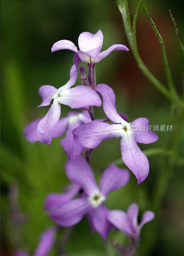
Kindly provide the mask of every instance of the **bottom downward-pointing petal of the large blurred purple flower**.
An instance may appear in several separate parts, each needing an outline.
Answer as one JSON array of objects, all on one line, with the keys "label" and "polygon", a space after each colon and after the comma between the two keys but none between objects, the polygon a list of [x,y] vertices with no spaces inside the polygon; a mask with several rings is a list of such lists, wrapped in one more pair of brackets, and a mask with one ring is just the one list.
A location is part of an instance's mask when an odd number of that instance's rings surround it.
[{"label": "bottom downward-pointing petal of the large blurred purple flower", "polygon": [[94,229],[102,236],[104,242],[107,241],[107,235],[112,227],[111,223],[107,220],[109,209],[103,204],[92,212],[92,224]]}]

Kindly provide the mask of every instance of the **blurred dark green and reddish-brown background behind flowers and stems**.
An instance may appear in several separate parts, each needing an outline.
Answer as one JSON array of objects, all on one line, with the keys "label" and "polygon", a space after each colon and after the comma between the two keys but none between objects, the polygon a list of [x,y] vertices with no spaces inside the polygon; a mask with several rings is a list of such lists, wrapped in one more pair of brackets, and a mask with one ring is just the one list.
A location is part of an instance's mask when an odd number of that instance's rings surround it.
[{"label": "blurred dark green and reddish-brown background behind flowers and stems", "polygon": [[[129,1],[130,16],[133,19],[138,1]],[[145,1],[158,31],[166,44],[166,53],[178,92],[182,91],[183,58],[176,39],[169,9],[184,40],[183,1]],[[74,53],[68,50],[51,53],[52,44],[68,39],[76,44],[83,31],[96,33],[101,29],[104,35],[102,50],[112,44],[128,46],[121,14],[114,0],[4,0],[2,15],[2,95],[1,95],[1,223],[2,256],[13,255],[17,249],[33,255],[41,232],[53,222],[43,210],[43,202],[50,192],[60,192],[69,183],[64,164],[67,156],[59,144],[60,138],[51,145],[31,144],[23,135],[26,124],[44,116],[48,107],[36,108],[41,98],[38,89],[43,84],[59,88],[69,79]],[[137,20],[137,41],[140,55],[148,68],[166,84],[160,45],[143,10]],[[85,69],[87,65],[84,64]],[[87,69],[86,69],[87,70]],[[110,85],[117,97],[117,109],[132,121],[144,116],[150,124],[169,124],[169,102],[150,84],[137,68],[131,52],[112,52],[96,64],[97,84]],[[77,84],[81,84],[77,78]],[[70,108],[62,106],[61,116]],[[95,108],[96,118],[105,114]],[[158,132],[159,140],[153,145],[140,145],[141,149],[159,148],[165,143],[168,132]],[[172,132],[170,135],[172,136]],[[184,156],[184,133],[180,135],[180,156]],[[99,169],[110,161],[121,157],[119,139],[107,140],[94,150],[91,158],[93,170],[99,179]],[[126,210],[129,204],[137,203],[140,214],[152,209],[152,198],[156,193],[163,156],[150,156],[150,174],[137,186],[131,173],[129,184],[109,195],[110,209]],[[119,164],[123,166],[123,164]],[[175,165],[172,178],[168,181],[159,224],[157,240],[151,252],[146,252],[149,236],[142,230],[139,255],[184,255],[184,172],[182,165]],[[164,183],[164,180],[163,180]],[[164,186],[164,185],[163,185]],[[13,209],[19,211],[15,221]],[[16,210],[17,211],[17,210]],[[151,224],[150,234],[152,232]],[[62,240],[64,228],[58,235]],[[154,231],[155,232],[155,231]],[[124,236],[112,231],[111,239],[124,242]],[[126,241],[125,241],[126,242]],[[141,250],[143,250],[141,252]],[[101,237],[90,232],[84,218],[73,228],[66,252],[71,256],[115,255],[110,242],[104,244]],[[50,255],[57,255],[57,246]]]}]

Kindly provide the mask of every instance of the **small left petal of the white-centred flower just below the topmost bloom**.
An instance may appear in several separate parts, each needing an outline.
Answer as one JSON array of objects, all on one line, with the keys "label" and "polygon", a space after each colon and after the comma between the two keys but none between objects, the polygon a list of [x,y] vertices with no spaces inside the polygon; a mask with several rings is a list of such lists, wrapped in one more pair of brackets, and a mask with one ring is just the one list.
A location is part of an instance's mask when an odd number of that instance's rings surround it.
[{"label": "small left petal of the white-centred flower just below the topmost bloom", "polygon": [[52,85],[42,85],[39,88],[39,95],[42,98],[42,103],[38,107],[50,105],[51,100],[53,99],[54,93],[57,89]]}]

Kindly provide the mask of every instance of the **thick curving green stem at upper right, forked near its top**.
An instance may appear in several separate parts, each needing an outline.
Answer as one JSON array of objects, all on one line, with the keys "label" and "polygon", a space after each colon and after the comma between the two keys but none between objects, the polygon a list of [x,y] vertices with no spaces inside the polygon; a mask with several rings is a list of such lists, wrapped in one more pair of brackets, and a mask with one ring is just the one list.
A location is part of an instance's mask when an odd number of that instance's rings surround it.
[{"label": "thick curving green stem at upper right, forked near its top", "polygon": [[[136,14],[134,17],[134,23],[133,23],[133,30],[131,27],[130,22],[130,15],[129,15],[129,7],[127,0],[117,0],[118,8],[121,12],[125,32],[127,35],[127,39],[131,48],[131,51],[134,55],[134,58],[136,60],[138,68],[143,72],[144,76],[147,77],[147,79],[158,89],[159,92],[161,92],[167,99],[176,102],[177,104],[181,104],[180,99],[177,95],[173,95],[151,72],[150,70],[145,66],[144,62],[142,61],[138,48],[137,48],[137,41],[136,41],[136,20],[138,11],[140,9],[140,5],[142,4],[142,1],[139,2]],[[133,33],[134,32],[134,33]]]}]

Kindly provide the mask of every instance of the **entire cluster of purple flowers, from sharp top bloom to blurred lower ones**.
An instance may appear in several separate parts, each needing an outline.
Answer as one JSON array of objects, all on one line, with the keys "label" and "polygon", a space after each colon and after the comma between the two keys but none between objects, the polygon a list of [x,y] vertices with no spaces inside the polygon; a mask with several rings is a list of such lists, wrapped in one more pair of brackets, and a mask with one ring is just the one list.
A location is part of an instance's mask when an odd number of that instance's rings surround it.
[{"label": "entire cluster of purple flowers, from sharp top bloom to blurred lower ones", "polygon": [[[140,184],[148,176],[149,162],[137,142],[149,144],[158,140],[158,136],[148,129],[146,131],[132,129],[135,126],[148,126],[149,120],[139,117],[128,122],[126,114],[117,112],[113,89],[107,84],[96,86],[95,63],[104,59],[112,51],[129,50],[125,45],[114,44],[100,53],[102,43],[103,34],[99,30],[96,34],[89,32],[80,34],[78,38],[80,50],[77,50],[77,47],[68,40],[60,40],[52,46],[52,52],[62,49],[75,52],[74,64],[70,69],[70,79],[59,89],[51,85],[40,87],[39,94],[42,103],[38,107],[48,106],[52,100],[53,103],[45,117],[38,118],[26,126],[24,134],[26,140],[32,143],[40,141],[49,145],[52,138],[60,137],[66,132],[65,138],[60,140],[60,144],[69,158],[65,170],[71,184],[66,187],[64,193],[52,193],[47,196],[44,208],[49,212],[50,218],[60,226],[70,227],[87,215],[91,229],[97,231],[104,241],[107,240],[111,228],[118,228],[127,237],[139,241],[141,227],[154,218],[154,213],[145,212],[138,225],[138,206],[136,204],[131,204],[127,213],[120,210],[109,210],[105,206],[108,193],[125,186],[130,179],[130,173],[111,163],[102,173],[98,186],[89,165],[89,156],[92,149],[98,147],[103,140],[121,138],[122,160],[135,174],[138,184]],[[72,87],[76,83],[77,70],[81,61],[88,65],[88,77],[84,68],[80,67],[82,84]],[[107,116],[105,120],[95,120],[94,118],[93,106],[101,106],[100,96]],[[60,118],[60,104],[78,108],[81,112],[70,111],[66,117]],[[85,156],[81,155],[83,151]],[[52,235],[50,235],[50,230],[52,230]],[[41,247],[41,249],[37,249],[39,253],[36,251],[36,256],[46,255],[40,251],[48,252],[53,244],[55,231],[49,229],[49,232],[45,232],[40,241],[48,239],[47,241],[50,242],[47,242],[47,249],[40,242],[38,248]],[[18,256],[23,256],[23,254]]]}]

